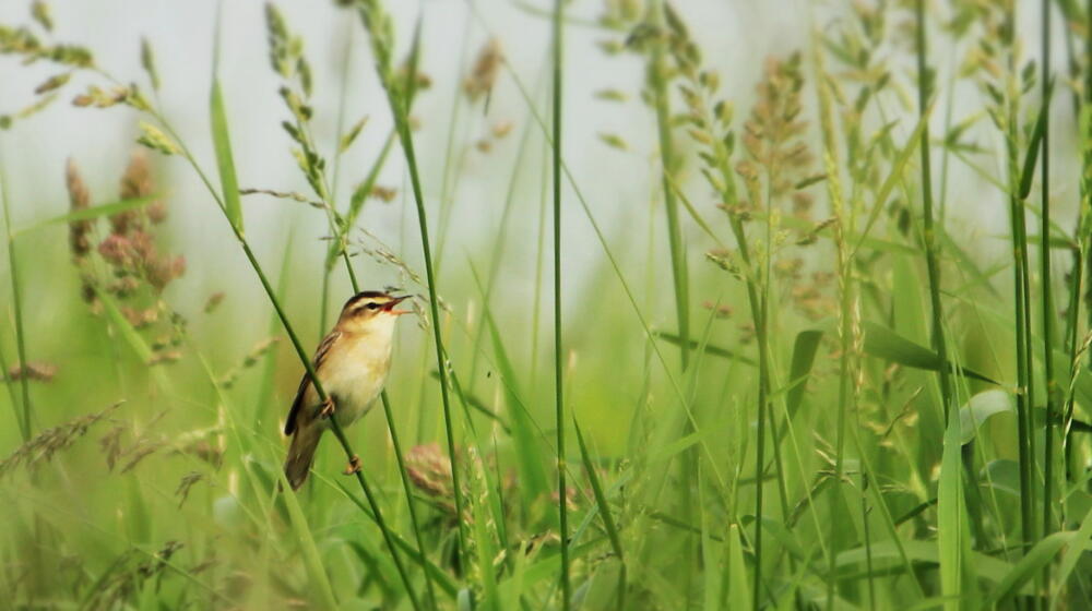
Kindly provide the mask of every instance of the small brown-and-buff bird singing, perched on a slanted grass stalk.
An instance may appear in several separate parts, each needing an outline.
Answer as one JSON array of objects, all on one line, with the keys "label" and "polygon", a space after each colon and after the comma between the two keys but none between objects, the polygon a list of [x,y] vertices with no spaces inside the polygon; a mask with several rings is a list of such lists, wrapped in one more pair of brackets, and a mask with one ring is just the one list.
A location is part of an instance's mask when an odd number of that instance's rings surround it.
[{"label": "small brown-and-buff bird singing, perched on a slanted grass stalk", "polygon": [[[292,436],[284,475],[293,490],[307,481],[322,433],[331,427],[330,418],[336,418],[342,428],[348,427],[382,392],[391,366],[394,323],[400,315],[411,313],[395,307],[408,297],[378,290],[354,295],[319,344],[311,363],[327,400],[305,372],[284,423],[284,434]],[[354,456],[345,474],[359,470],[360,459]]]}]

